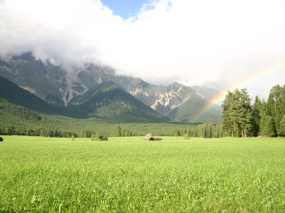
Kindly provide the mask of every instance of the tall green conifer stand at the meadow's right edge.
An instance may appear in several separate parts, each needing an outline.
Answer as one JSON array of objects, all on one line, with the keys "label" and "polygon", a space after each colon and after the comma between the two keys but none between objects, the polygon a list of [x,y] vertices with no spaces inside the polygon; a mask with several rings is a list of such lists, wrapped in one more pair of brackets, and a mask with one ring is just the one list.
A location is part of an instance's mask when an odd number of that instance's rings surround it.
[{"label": "tall green conifer stand at the meadow's right edge", "polygon": [[276,137],[285,135],[285,85],[271,88],[267,102],[255,97],[250,105],[247,89],[236,89],[223,101],[224,136]]}]

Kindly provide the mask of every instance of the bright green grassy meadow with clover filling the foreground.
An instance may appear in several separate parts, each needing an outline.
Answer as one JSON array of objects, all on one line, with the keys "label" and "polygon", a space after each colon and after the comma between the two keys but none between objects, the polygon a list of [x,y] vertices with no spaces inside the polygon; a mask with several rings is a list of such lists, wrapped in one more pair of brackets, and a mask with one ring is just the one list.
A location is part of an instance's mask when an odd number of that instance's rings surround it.
[{"label": "bright green grassy meadow with clover filling the foreground", "polygon": [[284,138],[2,137],[0,212],[285,212]]}]

